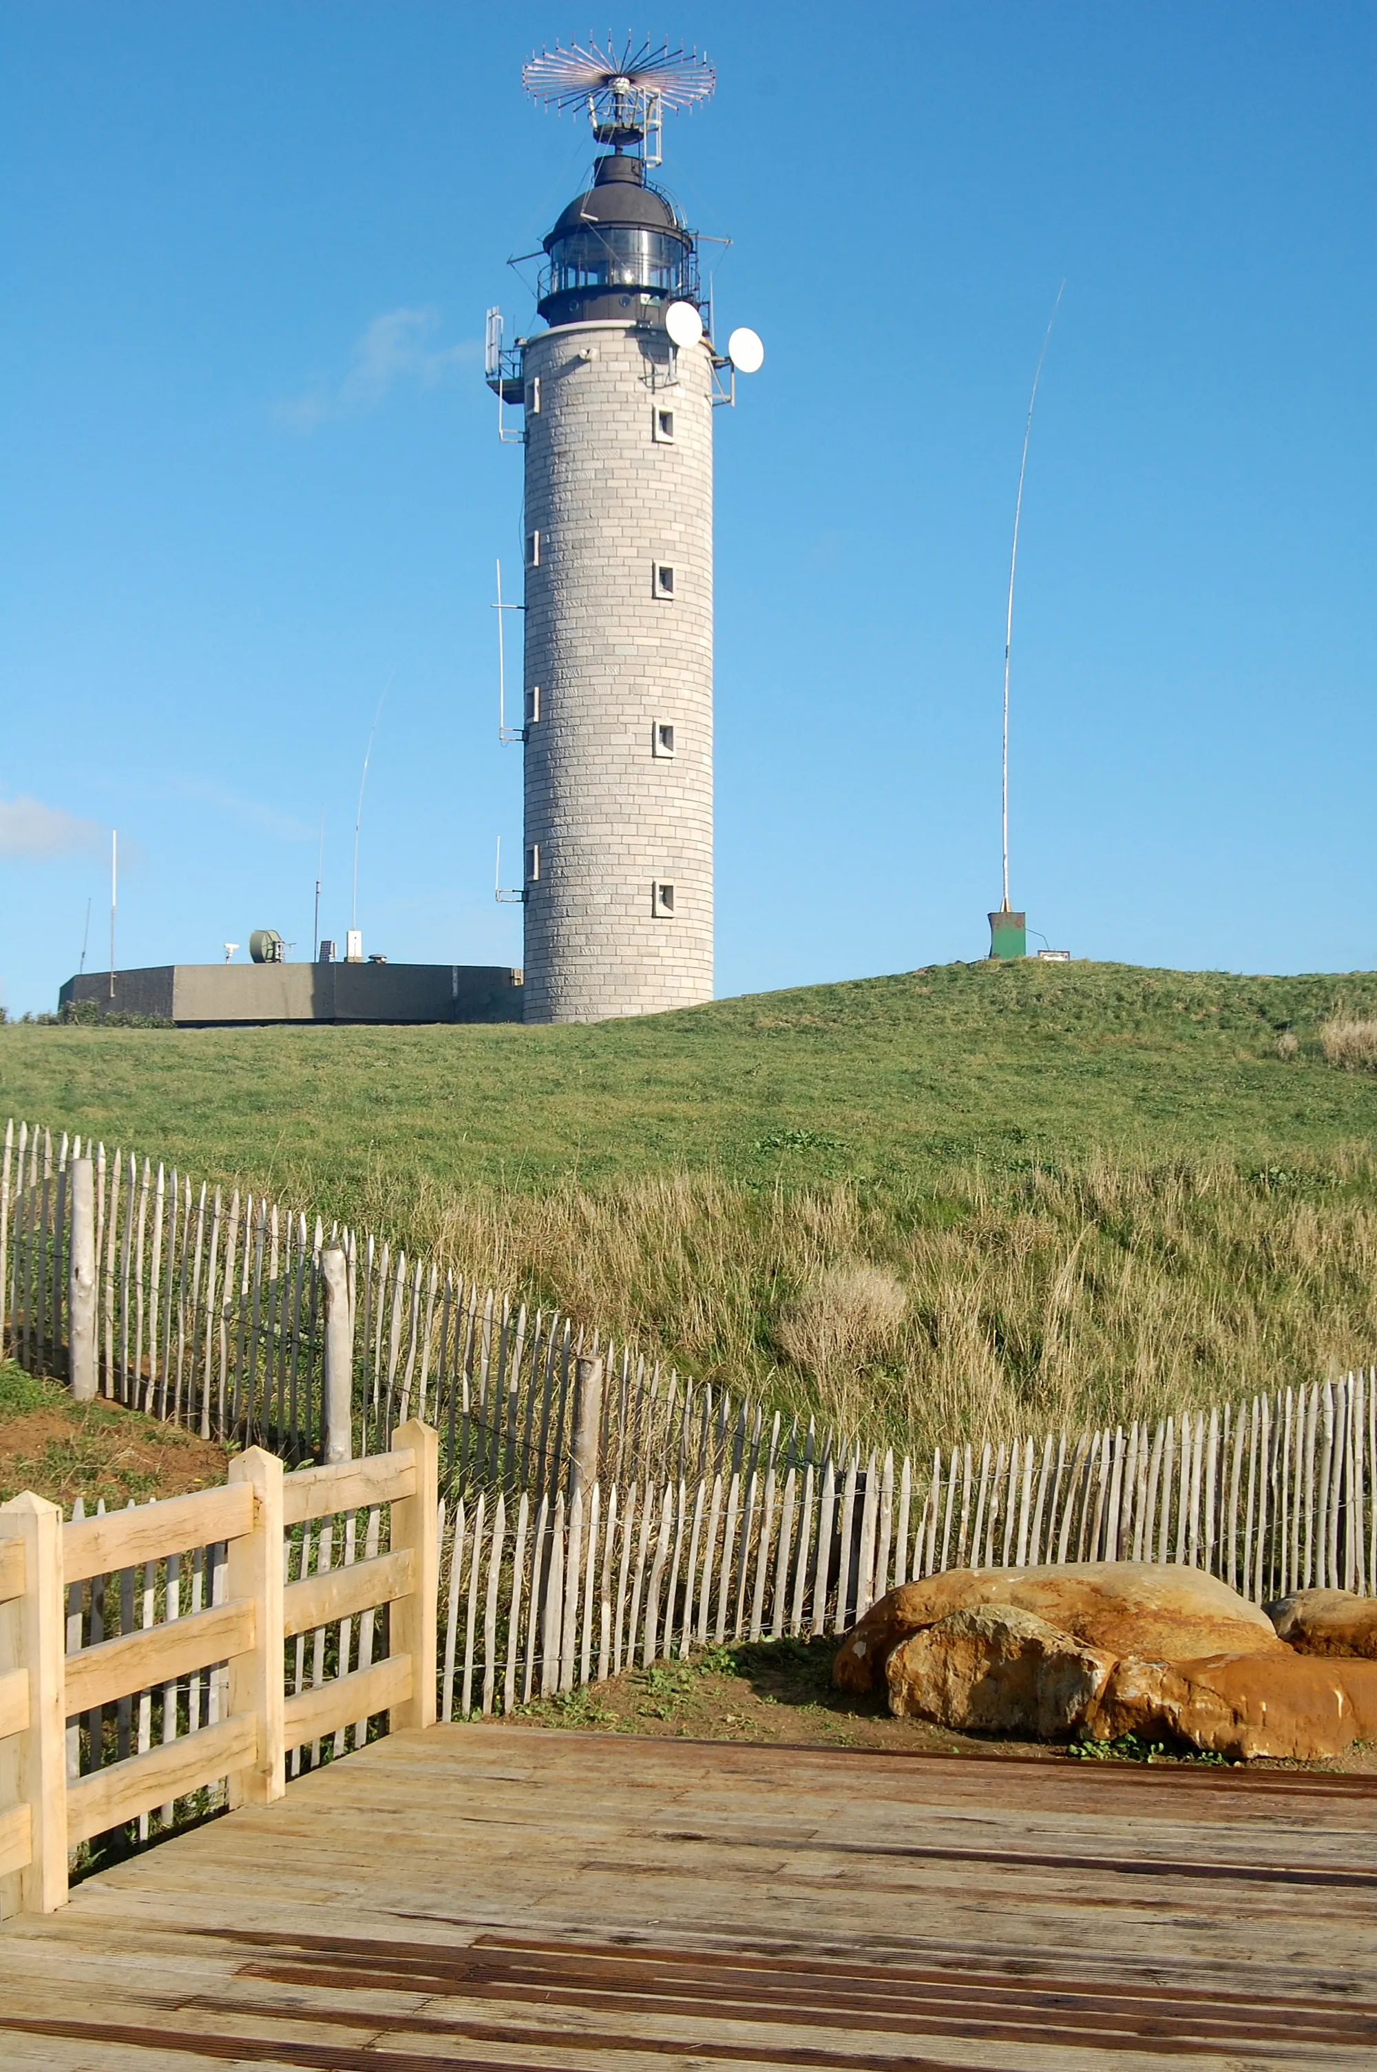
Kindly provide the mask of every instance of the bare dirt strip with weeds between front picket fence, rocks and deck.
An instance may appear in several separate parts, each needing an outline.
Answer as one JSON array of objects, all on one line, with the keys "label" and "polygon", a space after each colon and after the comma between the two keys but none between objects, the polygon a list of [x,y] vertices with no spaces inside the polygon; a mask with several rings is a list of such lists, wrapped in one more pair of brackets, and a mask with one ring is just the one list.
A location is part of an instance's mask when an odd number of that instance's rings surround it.
[{"label": "bare dirt strip with weeds between front picket fence, rocks and deck", "polygon": [[[706,1647],[687,1662],[656,1662],[623,1670],[563,1697],[532,1699],[514,1724],[580,1728],[584,1732],[638,1734],[681,1740],[745,1740],[820,1749],[884,1749],[890,1755],[1017,1755],[1064,1761],[1066,1743],[1004,1740],[955,1734],[926,1720],[892,1720],[874,1693],[832,1685],[837,1641],[750,1641]],[[1199,1767],[1218,1757],[1120,1743],[1087,1751],[1089,1761],[1129,1761]],[[1336,1761],[1234,1765],[1247,1769],[1367,1772],[1377,1774],[1377,1745],[1356,1743]]]}]

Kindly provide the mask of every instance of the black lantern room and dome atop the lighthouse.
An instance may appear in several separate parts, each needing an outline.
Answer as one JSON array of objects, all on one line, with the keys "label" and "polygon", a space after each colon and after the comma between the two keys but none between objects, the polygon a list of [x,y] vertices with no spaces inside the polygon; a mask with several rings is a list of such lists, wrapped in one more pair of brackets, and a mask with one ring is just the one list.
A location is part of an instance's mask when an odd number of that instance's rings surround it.
[{"label": "black lantern room and dome atop the lighthouse", "polygon": [[592,186],[545,238],[538,311],[549,325],[590,319],[663,325],[669,303],[698,300],[698,251],[640,157],[600,157]]}]

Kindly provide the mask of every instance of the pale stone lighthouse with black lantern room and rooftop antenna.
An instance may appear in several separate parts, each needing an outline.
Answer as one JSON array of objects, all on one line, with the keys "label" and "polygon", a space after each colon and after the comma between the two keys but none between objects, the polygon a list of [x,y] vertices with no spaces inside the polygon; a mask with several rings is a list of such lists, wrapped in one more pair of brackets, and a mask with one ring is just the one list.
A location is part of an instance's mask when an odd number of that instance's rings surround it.
[{"label": "pale stone lighthouse with black lantern room and rooftop antenna", "polygon": [[[532,93],[605,147],[545,238],[545,329],[489,381],[524,419],[526,1019],[712,997],[712,406],[698,249],[652,182],[681,52],[557,50]],[[754,334],[752,334],[754,336]]]}]

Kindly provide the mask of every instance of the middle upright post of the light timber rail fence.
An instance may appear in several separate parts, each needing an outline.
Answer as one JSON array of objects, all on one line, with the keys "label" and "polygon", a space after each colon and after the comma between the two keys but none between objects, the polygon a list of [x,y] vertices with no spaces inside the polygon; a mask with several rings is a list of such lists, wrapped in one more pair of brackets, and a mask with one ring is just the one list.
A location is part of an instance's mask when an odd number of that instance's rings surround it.
[{"label": "middle upright post of the light timber rail fence", "polygon": [[230,1481],[253,1484],[253,1531],[226,1548],[226,1595],[248,1598],[255,1610],[253,1649],[230,1658],[230,1718],[253,1714],[259,1749],[236,1769],[230,1807],[261,1807],[286,1792],[284,1751],[284,1614],[282,1614],[282,1461],[251,1446],[230,1461]]}]

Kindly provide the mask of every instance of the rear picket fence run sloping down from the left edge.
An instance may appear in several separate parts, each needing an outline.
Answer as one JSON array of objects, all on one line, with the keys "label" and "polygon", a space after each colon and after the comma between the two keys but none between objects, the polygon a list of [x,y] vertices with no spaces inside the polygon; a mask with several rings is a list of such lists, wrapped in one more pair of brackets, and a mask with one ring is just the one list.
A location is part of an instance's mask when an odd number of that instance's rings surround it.
[{"label": "rear picket fence run sloping down from the left edge", "polygon": [[[248,1189],[8,1121],[0,1152],[0,1351],[70,1363],[72,1179],[91,1167],[93,1359],[104,1397],[203,1438],[321,1448],[325,1247],[344,1251],[352,1446],[406,1417],[441,1438],[447,1488],[561,1486],[580,1355],[598,1355],[598,1459],[619,1479],[750,1471],[781,1434],[760,1405],[663,1374],[625,1341],[441,1272],[371,1233]],[[801,1459],[803,1434],[785,1434]]]}]

